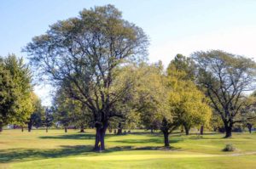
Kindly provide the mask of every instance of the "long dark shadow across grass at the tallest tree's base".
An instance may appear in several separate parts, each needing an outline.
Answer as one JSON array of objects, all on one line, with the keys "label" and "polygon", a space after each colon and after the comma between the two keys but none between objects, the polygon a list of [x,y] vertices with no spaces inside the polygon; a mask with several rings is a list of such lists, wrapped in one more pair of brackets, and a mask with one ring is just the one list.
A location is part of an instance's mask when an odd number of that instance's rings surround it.
[{"label": "long dark shadow across grass at the tallest tree's base", "polygon": [[[102,151],[103,154],[127,150],[177,150],[179,148],[117,146]],[[35,161],[72,155],[101,155],[91,145],[61,146],[61,149],[6,149],[0,152],[0,163],[13,161]]]}]

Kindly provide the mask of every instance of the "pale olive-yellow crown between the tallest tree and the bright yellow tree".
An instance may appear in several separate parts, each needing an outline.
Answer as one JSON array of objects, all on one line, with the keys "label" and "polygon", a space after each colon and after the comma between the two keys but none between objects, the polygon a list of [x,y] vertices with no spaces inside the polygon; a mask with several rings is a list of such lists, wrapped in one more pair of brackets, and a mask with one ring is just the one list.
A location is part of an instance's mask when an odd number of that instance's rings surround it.
[{"label": "pale olive-yellow crown between the tallest tree and the bright yellow tree", "polygon": [[164,87],[161,63],[126,65],[120,70],[115,90],[125,87],[128,92],[114,107],[124,116],[119,122],[125,127],[143,126],[151,131],[160,129],[160,114],[167,111],[166,88]]}]

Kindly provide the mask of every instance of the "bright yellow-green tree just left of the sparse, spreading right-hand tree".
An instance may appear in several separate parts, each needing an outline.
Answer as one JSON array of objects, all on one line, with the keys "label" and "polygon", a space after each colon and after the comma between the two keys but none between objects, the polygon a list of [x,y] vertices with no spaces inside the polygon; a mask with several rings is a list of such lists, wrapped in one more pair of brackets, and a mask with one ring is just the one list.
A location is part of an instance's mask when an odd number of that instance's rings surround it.
[{"label": "bright yellow-green tree just left of the sparse, spreading right-hand tree", "polygon": [[169,104],[172,115],[176,117],[176,123],[183,125],[186,135],[191,127],[207,126],[212,110],[204,93],[191,81],[176,80],[171,85]]}]

